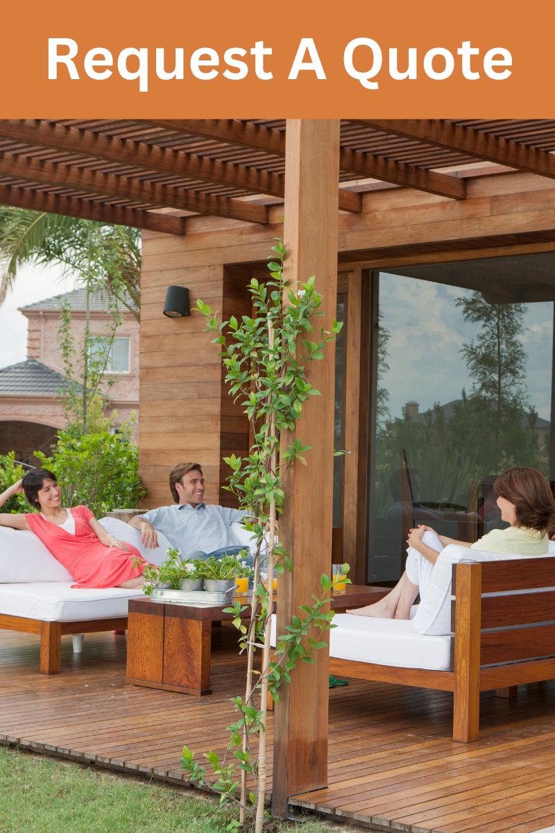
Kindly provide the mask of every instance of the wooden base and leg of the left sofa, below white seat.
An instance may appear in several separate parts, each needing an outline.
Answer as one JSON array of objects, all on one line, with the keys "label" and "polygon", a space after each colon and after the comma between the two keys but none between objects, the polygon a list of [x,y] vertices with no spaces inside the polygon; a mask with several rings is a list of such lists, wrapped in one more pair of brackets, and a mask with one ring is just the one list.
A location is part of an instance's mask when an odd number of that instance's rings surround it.
[{"label": "wooden base and leg of the left sofa, below white seat", "polygon": [[37,633],[41,636],[42,674],[59,674],[62,662],[62,636],[76,633],[97,633],[98,631],[124,631],[127,617],[93,619],[90,621],[47,622],[41,619],[27,619],[24,616],[0,614],[0,629]]}]

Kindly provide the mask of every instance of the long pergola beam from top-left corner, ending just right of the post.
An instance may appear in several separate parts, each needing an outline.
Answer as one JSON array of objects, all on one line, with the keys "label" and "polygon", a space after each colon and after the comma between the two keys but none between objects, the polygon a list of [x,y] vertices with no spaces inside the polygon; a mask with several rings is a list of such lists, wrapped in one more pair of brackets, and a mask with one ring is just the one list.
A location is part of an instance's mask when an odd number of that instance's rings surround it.
[{"label": "long pergola beam from top-left corner, ending just right of the post", "polygon": [[[171,150],[169,147],[157,147],[146,142],[132,142],[104,133],[77,130],[55,122],[32,120],[0,120],[0,137],[14,139],[17,142],[53,150],[62,150],[105,159],[119,165],[132,165],[148,171],[167,173],[171,177],[202,179],[217,185],[244,189],[254,194],[270,194],[283,197],[285,194],[285,177],[280,173],[258,170],[255,167],[235,165]],[[352,191],[339,192],[339,208],[343,211],[359,212],[360,194]]]}]

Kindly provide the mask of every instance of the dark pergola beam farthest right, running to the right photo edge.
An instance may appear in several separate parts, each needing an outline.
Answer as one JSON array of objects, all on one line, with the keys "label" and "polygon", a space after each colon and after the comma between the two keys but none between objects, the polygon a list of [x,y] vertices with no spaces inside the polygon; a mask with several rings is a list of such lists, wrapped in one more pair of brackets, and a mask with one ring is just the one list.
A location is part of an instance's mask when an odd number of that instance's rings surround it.
[{"label": "dark pergola beam farthest right, running to the right photo edge", "polygon": [[357,119],[358,124],[375,127],[394,136],[417,139],[433,147],[447,148],[488,162],[555,178],[553,153],[528,147],[522,142],[493,136],[471,127],[461,127],[441,119]]}]

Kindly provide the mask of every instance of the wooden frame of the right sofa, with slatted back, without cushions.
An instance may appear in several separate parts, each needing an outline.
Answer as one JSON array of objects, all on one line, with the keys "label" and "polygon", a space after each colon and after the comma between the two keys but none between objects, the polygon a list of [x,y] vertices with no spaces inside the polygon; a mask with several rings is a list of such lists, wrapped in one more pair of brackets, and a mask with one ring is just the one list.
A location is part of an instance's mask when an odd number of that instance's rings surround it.
[{"label": "wooden frame of the right sofa, with slatted back, without cushions", "polygon": [[[453,741],[477,741],[480,691],[513,696],[519,683],[555,678],[555,591],[526,592],[548,587],[555,587],[555,558],[453,565],[450,671],[330,658],[330,673],[453,691]],[[483,596],[515,590],[524,592]]]}]

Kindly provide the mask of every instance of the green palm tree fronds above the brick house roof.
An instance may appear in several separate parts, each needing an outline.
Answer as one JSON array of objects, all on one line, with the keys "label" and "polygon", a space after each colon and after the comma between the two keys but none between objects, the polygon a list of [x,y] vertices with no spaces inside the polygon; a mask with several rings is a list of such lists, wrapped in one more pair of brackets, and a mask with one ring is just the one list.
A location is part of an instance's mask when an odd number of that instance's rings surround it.
[{"label": "green palm tree fronds above the brick house roof", "polygon": [[105,290],[139,320],[138,229],[0,206],[0,305],[28,263],[62,267],[88,287]]}]

